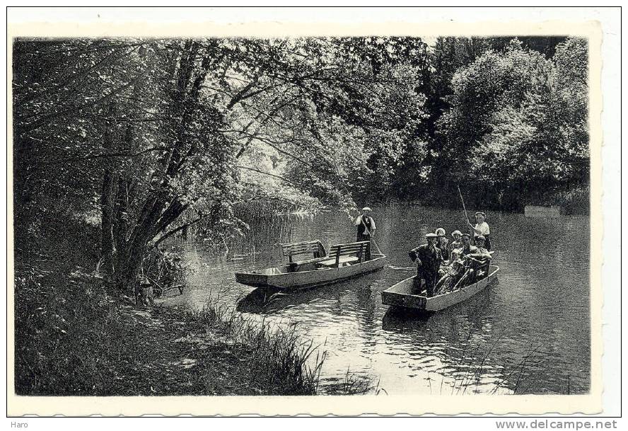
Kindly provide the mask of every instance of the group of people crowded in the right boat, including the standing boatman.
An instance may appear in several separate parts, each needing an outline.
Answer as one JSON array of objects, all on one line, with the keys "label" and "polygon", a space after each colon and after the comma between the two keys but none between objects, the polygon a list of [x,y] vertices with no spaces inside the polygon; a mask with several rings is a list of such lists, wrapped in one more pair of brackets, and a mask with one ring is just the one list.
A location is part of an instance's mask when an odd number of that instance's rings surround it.
[{"label": "group of people crowded in the right boat, including the standing boatman", "polygon": [[439,227],[426,234],[426,244],[409,251],[410,258],[417,263],[414,280],[419,292],[425,289],[427,296],[432,297],[465,287],[487,275],[491,231],[484,212],[476,212],[475,219],[475,225],[469,223],[470,234],[453,231],[453,241],[449,242],[445,229]]}]

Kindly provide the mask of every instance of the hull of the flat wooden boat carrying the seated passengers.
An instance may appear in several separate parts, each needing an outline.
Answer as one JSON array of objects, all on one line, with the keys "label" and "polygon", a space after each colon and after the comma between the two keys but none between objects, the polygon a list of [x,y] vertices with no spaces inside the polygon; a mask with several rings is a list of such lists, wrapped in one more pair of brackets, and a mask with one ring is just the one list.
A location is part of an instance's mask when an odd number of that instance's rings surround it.
[{"label": "hull of the flat wooden boat carrying the seated passengers", "polygon": [[453,292],[446,292],[429,298],[417,294],[414,287],[414,277],[409,277],[383,291],[382,303],[421,311],[440,311],[459,302],[466,301],[473,295],[481,292],[491,282],[496,280],[498,271],[499,267],[490,265],[487,277],[472,285],[456,289]]}]

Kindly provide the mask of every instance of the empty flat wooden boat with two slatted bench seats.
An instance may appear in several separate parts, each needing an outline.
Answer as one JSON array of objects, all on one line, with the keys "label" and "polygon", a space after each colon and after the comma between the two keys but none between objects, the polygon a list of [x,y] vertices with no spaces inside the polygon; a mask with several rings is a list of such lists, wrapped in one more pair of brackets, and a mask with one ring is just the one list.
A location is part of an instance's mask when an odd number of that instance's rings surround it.
[{"label": "empty flat wooden boat with two slatted bench seats", "polygon": [[[319,241],[284,244],[282,248],[284,255],[289,257],[288,263],[251,272],[236,272],[236,281],[243,285],[275,288],[284,292],[329,285],[384,268],[385,255],[373,254],[371,259],[366,260],[368,246],[368,241],[336,244],[331,246],[330,254],[327,255]],[[308,252],[314,253],[315,257],[293,261],[294,255]]]}]

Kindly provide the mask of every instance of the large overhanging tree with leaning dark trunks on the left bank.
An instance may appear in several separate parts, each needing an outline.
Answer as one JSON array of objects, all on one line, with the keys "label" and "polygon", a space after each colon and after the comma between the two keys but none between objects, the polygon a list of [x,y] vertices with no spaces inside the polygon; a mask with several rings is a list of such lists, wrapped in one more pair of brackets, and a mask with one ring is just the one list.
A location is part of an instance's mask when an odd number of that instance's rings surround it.
[{"label": "large overhanging tree with leaning dark trunks on the left bank", "polygon": [[352,204],[422,104],[419,69],[388,64],[407,46],[362,42],[19,41],[16,207],[33,202],[31,222],[50,198],[67,217],[99,211],[104,268],[129,288],[146,251],[233,225],[238,202]]}]

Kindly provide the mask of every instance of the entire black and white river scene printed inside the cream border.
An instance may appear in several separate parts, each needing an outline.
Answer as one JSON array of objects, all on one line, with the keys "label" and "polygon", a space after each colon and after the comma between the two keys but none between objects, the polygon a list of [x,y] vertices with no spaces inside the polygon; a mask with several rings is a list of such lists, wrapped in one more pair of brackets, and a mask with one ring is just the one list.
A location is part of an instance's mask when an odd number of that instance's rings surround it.
[{"label": "entire black and white river scene printed inside the cream border", "polygon": [[598,393],[590,28],[16,35],[9,391]]}]

